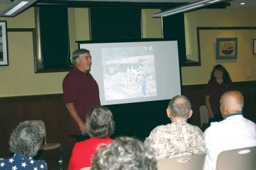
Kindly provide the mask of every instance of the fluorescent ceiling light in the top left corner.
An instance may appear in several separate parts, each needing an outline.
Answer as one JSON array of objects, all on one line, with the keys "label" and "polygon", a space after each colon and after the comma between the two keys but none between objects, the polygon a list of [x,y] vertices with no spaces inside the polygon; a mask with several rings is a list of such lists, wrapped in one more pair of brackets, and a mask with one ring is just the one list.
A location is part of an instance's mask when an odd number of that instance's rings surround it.
[{"label": "fluorescent ceiling light in the top left corner", "polygon": [[36,0],[15,0],[10,6],[0,12],[0,17],[15,17],[20,12],[24,11]]}]

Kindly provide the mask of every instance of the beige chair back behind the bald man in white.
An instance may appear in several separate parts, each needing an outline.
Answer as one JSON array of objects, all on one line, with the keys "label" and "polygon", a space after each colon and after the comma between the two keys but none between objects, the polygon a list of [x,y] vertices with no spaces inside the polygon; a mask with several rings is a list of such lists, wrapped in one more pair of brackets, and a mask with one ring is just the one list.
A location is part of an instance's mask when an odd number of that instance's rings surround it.
[{"label": "beige chair back behind the bald man in white", "polygon": [[256,146],[222,151],[217,158],[216,170],[255,170]]}]

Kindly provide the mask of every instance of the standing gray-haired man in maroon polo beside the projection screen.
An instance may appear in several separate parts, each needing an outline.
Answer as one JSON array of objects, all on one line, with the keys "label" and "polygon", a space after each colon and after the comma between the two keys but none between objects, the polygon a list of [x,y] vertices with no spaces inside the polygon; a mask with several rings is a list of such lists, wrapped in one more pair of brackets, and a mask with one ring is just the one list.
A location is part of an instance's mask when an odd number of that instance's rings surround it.
[{"label": "standing gray-haired man in maroon polo beside the projection screen", "polygon": [[89,50],[77,49],[72,53],[74,68],[63,79],[63,100],[70,118],[68,131],[77,142],[86,137],[86,114],[95,105],[100,105],[99,86],[90,74],[92,56]]}]

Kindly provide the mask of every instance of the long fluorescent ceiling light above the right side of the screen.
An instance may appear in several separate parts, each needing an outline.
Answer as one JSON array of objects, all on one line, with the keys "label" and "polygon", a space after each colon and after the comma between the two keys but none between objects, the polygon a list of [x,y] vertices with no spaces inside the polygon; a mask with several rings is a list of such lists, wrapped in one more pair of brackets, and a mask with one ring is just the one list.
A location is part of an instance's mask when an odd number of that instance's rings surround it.
[{"label": "long fluorescent ceiling light above the right side of the screen", "polygon": [[166,11],[163,11],[163,12],[156,13],[155,15],[153,15],[153,17],[154,18],[157,18],[157,17],[168,17],[168,16],[174,15],[176,13],[187,12],[189,10],[200,8],[202,6],[207,6],[209,4],[218,3],[220,1],[223,1],[223,0],[196,1],[195,3],[184,4],[182,6],[178,6],[176,8],[172,8],[170,10],[166,10]]}]

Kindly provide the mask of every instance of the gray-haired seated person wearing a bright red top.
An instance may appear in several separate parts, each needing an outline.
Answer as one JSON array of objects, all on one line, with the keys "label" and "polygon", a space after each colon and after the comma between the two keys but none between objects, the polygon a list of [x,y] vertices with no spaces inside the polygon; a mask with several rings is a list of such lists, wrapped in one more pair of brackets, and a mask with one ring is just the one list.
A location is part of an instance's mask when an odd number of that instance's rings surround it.
[{"label": "gray-haired seated person wearing a bright red top", "polygon": [[68,164],[68,170],[91,166],[91,159],[100,144],[108,144],[115,129],[112,112],[107,107],[95,106],[86,116],[86,133],[91,137],[76,143]]}]

